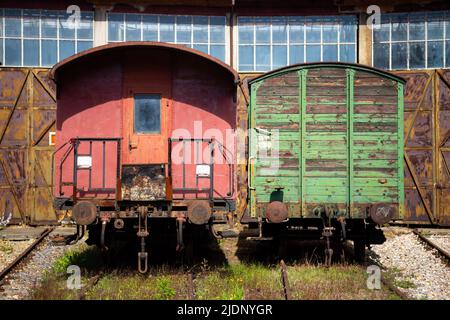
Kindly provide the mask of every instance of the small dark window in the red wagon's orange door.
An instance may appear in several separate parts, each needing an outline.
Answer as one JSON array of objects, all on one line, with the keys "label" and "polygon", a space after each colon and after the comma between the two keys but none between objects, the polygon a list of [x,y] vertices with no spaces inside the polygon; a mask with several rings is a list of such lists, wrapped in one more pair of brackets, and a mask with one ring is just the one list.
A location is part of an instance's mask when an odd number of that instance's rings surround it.
[{"label": "small dark window in the red wagon's orange door", "polygon": [[134,96],[134,132],[161,132],[161,96],[137,94]]}]

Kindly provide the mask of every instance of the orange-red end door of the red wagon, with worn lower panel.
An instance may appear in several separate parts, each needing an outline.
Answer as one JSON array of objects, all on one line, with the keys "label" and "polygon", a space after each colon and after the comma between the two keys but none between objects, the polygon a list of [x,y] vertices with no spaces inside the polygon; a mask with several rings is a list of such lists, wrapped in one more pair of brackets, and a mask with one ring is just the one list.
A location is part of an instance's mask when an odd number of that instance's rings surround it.
[{"label": "orange-red end door of the red wagon, with worn lower panel", "polygon": [[124,78],[122,199],[164,199],[170,74],[152,65],[126,68]]}]

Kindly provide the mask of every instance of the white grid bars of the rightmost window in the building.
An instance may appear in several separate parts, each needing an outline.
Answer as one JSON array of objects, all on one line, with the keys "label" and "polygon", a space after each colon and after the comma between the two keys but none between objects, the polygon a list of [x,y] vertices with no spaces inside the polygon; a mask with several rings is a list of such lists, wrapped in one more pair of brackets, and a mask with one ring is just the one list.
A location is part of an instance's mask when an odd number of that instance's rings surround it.
[{"label": "white grid bars of the rightmost window in the building", "polygon": [[[411,23],[411,13],[416,14],[416,12],[400,12],[400,13],[387,13],[386,15],[389,16],[389,37],[387,41],[379,41],[379,42],[375,42],[375,29],[372,28],[372,66],[375,66],[375,54],[374,54],[374,44],[387,44],[389,49],[388,49],[388,54],[389,54],[389,60],[388,60],[388,64],[389,64],[389,69],[388,70],[432,70],[432,69],[436,69],[436,68],[449,68],[450,67],[450,61],[447,61],[447,56],[446,56],[446,49],[447,49],[447,42],[450,43],[450,37],[447,38],[446,34],[447,34],[447,22],[449,22],[450,24],[450,11],[442,11],[443,14],[443,19],[440,20],[436,20],[436,19],[431,19],[431,22],[433,21],[442,21],[443,23],[443,28],[442,28],[442,38],[439,39],[428,39],[428,23],[430,22],[430,20],[428,19],[428,16],[430,14],[436,13],[439,11],[431,11],[431,12],[423,12],[423,16],[424,19],[422,20],[424,22],[424,38],[417,40],[410,40],[410,23]],[[407,16],[407,28],[406,28],[406,34],[407,34],[407,38],[406,40],[392,40],[392,18],[393,17],[398,17],[401,15],[406,15]],[[447,20],[448,19],[448,20]],[[428,66],[428,43],[430,42],[437,42],[437,43],[442,43],[442,65],[441,66],[435,66],[435,67],[429,67]],[[406,68],[396,68],[393,69],[392,68],[392,44],[396,44],[396,43],[404,43],[406,44]],[[415,68],[411,68],[410,66],[410,43],[424,43],[424,67],[415,67]],[[448,65],[447,65],[448,64]]]}]

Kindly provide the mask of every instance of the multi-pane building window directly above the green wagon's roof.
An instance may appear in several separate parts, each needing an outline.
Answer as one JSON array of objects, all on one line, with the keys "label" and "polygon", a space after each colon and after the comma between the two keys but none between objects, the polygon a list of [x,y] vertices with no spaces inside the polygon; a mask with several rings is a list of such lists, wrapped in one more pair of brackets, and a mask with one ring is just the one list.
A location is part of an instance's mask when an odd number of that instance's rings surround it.
[{"label": "multi-pane building window directly above the green wagon's roof", "polygon": [[238,17],[239,71],[294,63],[356,62],[356,16]]}]

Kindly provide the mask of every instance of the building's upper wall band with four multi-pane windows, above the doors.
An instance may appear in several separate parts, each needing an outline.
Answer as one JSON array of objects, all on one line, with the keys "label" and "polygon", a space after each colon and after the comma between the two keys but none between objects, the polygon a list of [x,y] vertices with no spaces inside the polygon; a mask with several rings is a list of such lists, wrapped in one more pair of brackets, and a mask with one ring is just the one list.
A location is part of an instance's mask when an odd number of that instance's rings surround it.
[{"label": "building's upper wall band with four multi-pane windows, above the doors", "polygon": [[398,8],[380,1],[378,20],[371,20],[375,11],[367,14],[364,1],[319,1],[318,8],[263,1],[253,10],[251,1],[72,2],[6,3],[0,9],[3,65],[51,67],[93,46],[159,41],[205,52],[239,72],[317,61],[388,70],[450,66],[445,1],[424,1],[421,11],[410,6],[409,12],[401,10],[406,1],[394,1]]}]

